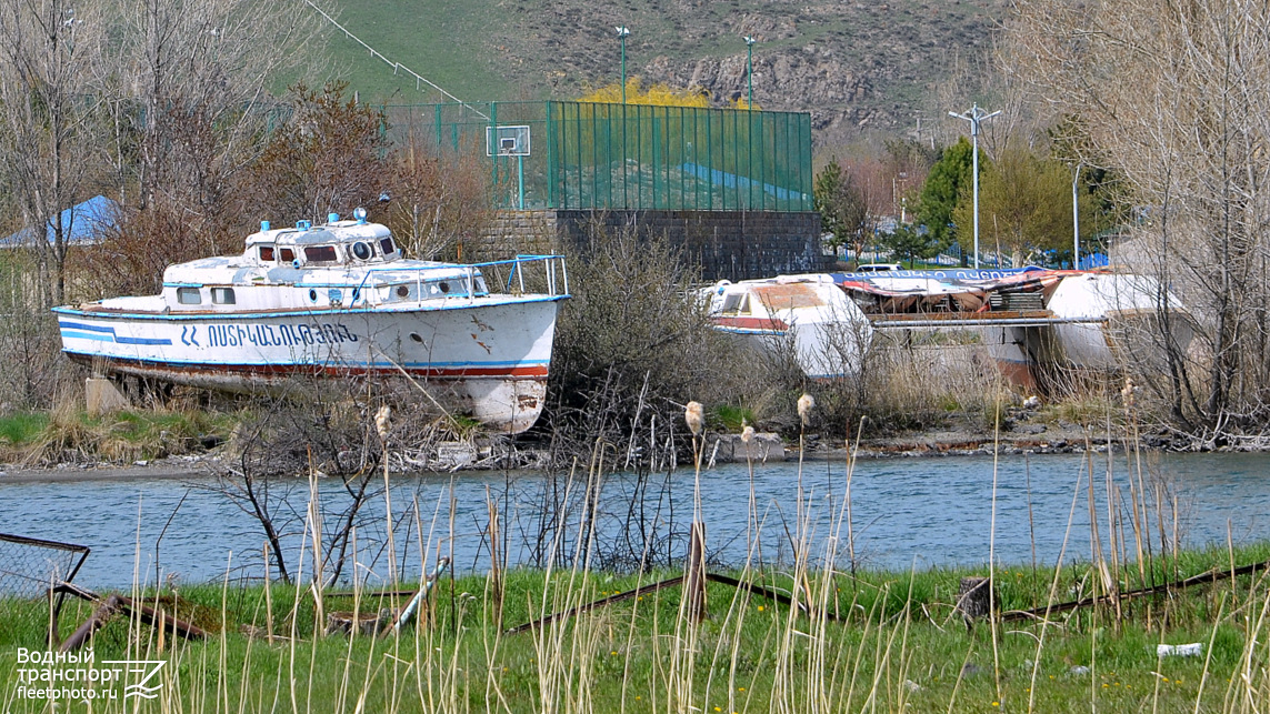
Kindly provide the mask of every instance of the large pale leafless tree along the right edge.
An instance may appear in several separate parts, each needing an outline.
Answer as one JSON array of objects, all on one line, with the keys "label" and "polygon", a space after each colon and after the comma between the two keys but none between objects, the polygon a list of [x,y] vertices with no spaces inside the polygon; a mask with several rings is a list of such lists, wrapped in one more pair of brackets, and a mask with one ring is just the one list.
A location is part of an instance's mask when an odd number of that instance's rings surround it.
[{"label": "large pale leafless tree along the right edge", "polygon": [[1086,165],[1124,178],[1139,222],[1121,259],[1198,317],[1203,354],[1160,321],[1170,356],[1152,384],[1209,444],[1270,415],[1266,28],[1270,6],[1256,0],[1019,0],[1007,25],[1007,65],[1078,119]]}]

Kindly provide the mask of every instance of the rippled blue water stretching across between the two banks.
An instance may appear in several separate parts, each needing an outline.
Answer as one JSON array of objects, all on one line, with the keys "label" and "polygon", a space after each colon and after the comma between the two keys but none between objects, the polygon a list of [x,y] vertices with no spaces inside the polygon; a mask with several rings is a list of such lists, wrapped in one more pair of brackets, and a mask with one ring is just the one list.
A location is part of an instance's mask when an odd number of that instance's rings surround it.
[{"label": "rippled blue water stretching across between the two banks", "polygon": [[[1064,561],[1088,559],[1091,497],[1106,545],[1109,471],[1119,531],[1132,542],[1130,482],[1137,490],[1139,481],[1124,455],[1110,462],[1106,454],[1003,457],[996,468],[996,501],[991,457],[861,459],[851,476],[850,529],[843,462],[808,462],[801,469],[796,462],[756,464],[753,501],[747,465],[725,464],[700,477],[706,550],[714,564],[739,564],[759,549],[765,561],[787,562],[794,543],[803,542],[817,559],[832,557],[841,566],[853,552],[862,566],[897,569],[984,564],[989,547],[1006,564],[1031,563],[1034,553],[1040,564],[1053,564],[1060,554]],[[1267,474],[1270,455],[1264,454],[1163,454],[1146,460],[1151,548],[1158,552],[1162,538],[1175,536],[1190,547],[1265,538]],[[585,557],[599,567],[634,568],[640,559],[667,563],[686,552],[695,482],[693,471],[685,468],[645,478],[606,476],[592,484],[594,507],[585,509],[584,474],[394,476],[392,549],[409,574],[431,568],[438,553],[452,555],[460,572],[484,572],[493,503],[502,514],[498,550],[509,564],[541,566],[552,554],[559,563]],[[349,545],[358,577],[372,582],[389,568],[382,477],[375,484],[378,491],[356,519],[356,549]],[[318,492],[326,540],[342,523],[348,498],[337,478],[320,479]],[[302,569],[304,577],[311,571],[304,536],[309,495],[310,482],[300,478],[276,479],[268,496],[288,568]],[[1158,514],[1157,502],[1163,505]],[[753,511],[757,529],[748,525]],[[0,482],[0,530],[90,547],[75,582],[94,588],[156,577],[203,582],[264,574],[259,523],[206,477]],[[837,552],[827,554],[833,543]],[[343,580],[352,569],[345,568]]]}]

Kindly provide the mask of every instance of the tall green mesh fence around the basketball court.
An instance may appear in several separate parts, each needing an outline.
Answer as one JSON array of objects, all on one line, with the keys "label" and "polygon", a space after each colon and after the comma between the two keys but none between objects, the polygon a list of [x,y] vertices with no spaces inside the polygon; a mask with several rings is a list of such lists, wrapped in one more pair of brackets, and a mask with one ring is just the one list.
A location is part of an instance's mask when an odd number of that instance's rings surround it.
[{"label": "tall green mesh fence around the basketball court", "polygon": [[813,211],[805,113],[577,101],[387,112],[398,142],[488,161],[504,207]]}]

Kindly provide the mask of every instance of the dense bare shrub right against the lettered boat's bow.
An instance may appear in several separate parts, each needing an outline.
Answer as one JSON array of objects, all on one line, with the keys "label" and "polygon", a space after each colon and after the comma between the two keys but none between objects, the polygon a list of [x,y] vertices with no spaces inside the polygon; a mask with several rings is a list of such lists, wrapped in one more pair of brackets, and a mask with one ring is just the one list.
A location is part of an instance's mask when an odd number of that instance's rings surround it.
[{"label": "dense bare shrub right against the lettered boat's bow", "polygon": [[665,450],[682,405],[728,401],[735,374],[734,350],[692,294],[697,273],[664,240],[598,222],[568,252],[573,299],[556,323],[544,422],[570,454],[597,440]]}]

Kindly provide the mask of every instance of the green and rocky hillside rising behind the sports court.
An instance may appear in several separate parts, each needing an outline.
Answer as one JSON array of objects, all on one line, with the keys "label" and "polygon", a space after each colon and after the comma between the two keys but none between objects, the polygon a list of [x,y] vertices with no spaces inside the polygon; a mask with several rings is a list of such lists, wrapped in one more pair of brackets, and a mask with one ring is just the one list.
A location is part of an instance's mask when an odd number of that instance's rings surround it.
[{"label": "green and rocky hillside rising behind the sports court", "polygon": [[[337,18],[390,60],[465,100],[572,99],[616,81],[631,29],[627,74],[700,86],[723,104],[745,91],[745,44],[754,47],[754,101],[810,110],[819,141],[860,129],[912,128],[958,53],[982,53],[1005,0],[345,0]],[[363,95],[428,103],[405,72],[330,25],[328,47]]]}]

